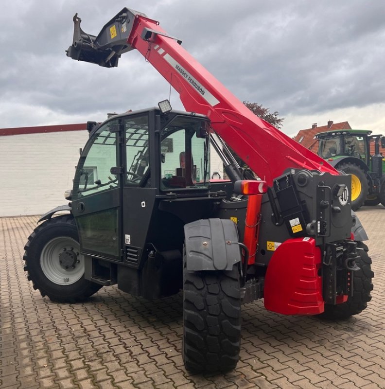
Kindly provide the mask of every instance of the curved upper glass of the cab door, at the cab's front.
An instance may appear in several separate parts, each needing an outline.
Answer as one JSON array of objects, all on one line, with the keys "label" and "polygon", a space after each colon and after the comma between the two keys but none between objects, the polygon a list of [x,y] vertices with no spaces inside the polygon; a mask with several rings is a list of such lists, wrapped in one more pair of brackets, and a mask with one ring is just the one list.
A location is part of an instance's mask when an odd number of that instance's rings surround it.
[{"label": "curved upper glass of the cab door, at the cab's front", "polygon": [[118,177],[111,174],[111,167],[118,166],[116,148],[117,120],[106,123],[93,135],[85,149],[73,182],[73,199],[116,188]]}]

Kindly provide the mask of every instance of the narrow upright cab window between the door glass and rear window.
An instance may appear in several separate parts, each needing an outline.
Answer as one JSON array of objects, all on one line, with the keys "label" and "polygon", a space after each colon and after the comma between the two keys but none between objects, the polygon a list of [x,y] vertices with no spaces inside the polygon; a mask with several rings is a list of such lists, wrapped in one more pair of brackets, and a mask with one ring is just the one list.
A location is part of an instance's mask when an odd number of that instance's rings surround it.
[{"label": "narrow upright cab window between the door glass and rear window", "polygon": [[126,184],[138,186],[150,167],[148,116],[128,118],[124,122],[126,136]]}]

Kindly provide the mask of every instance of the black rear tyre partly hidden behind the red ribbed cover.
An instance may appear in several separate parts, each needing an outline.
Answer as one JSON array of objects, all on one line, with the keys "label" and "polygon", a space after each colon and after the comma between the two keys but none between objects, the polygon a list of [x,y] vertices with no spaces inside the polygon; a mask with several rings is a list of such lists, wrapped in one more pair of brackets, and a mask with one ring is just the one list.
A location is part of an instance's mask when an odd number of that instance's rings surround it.
[{"label": "black rear tyre partly hidden behind the red ribbed cover", "polygon": [[350,316],[361,313],[368,306],[371,300],[370,292],[373,290],[372,278],[374,273],[371,270],[371,258],[368,256],[368,246],[358,242],[357,252],[360,260],[356,261],[360,270],[353,271],[353,296],[342,304],[325,304],[325,312],[319,317],[326,319],[347,319]]}]

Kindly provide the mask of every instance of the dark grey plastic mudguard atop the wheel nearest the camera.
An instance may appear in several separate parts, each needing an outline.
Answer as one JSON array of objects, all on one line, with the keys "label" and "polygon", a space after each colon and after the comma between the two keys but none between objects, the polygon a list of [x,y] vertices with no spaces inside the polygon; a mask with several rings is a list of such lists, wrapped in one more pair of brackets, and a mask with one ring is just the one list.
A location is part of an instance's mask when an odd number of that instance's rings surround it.
[{"label": "dark grey plastic mudguard atop the wheel nearest the camera", "polygon": [[187,270],[231,270],[241,262],[238,230],[231,220],[196,220],[184,232]]}]

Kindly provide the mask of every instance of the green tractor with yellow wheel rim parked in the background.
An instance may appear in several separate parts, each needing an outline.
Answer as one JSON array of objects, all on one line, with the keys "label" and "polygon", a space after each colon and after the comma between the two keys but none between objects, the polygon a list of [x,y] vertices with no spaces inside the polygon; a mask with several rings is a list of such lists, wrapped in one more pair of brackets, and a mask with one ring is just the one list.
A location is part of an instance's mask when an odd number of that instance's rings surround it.
[{"label": "green tractor with yellow wheel rim parked in the background", "polygon": [[[351,208],[362,205],[385,206],[385,158],[380,154],[385,137],[370,135],[369,130],[339,130],[316,134],[318,155],[337,170],[351,175]],[[370,156],[370,141],[374,140],[374,155]]]}]

